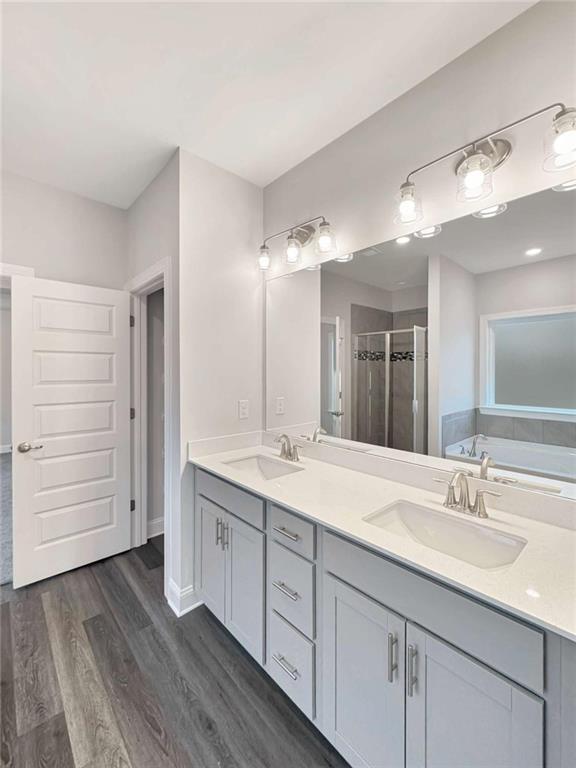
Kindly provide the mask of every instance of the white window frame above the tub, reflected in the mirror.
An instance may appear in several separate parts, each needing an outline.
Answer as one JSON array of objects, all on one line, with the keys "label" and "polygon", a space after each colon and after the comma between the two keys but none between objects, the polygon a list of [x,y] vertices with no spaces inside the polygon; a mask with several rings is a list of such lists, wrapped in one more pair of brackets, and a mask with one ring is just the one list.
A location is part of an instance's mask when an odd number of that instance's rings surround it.
[{"label": "white window frame above the tub, reflected in the mirror", "polygon": [[528,419],[552,421],[576,421],[576,408],[537,408],[535,406],[506,405],[495,402],[495,352],[494,325],[499,320],[542,317],[576,313],[576,304],[557,307],[541,307],[513,312],[480,315],[479,343],[479,410],[486,415],[516,416]]}]

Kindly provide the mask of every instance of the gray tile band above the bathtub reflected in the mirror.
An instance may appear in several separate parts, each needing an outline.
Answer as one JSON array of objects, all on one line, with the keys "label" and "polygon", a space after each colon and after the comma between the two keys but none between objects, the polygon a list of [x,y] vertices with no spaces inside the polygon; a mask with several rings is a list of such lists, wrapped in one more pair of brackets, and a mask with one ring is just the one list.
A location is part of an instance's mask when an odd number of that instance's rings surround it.
[{"label": "gray tile band above the bathtub reflected in the mirror", "polygon": [[576,448],[576,422],[498,416],[480,413],[479,408],[472,408],[442,417],[442,452],[448,445],[477,434]]}]

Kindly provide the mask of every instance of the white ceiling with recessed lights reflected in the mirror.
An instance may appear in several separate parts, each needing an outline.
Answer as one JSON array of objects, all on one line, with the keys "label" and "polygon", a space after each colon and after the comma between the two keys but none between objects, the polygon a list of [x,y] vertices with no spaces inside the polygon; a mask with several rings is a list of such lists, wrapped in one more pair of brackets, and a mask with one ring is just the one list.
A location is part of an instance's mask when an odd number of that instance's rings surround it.
[{"label": "white ceiling with recessed lights reflected in the mirror", "polygon": [[[541,248],[527,257],[529,248]],[[576,190],[551,189],[508,204],[492,219],[464,216],[444,224],[436,237],[413,237],[406,245],[392,240],[365,248],[348,264],[331,262],[323,269],[389,291],[426,285],[428,258],[446,256],[469,272],[481,274],[576,253]],[[399,285],[399,283],[404,285]]]}]

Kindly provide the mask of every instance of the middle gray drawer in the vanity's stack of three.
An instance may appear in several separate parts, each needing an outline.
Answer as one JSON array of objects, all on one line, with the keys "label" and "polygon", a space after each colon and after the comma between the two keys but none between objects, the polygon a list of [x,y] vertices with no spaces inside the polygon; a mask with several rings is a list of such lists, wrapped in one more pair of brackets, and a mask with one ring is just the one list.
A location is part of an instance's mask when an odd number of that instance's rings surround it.
[{"label": "middle gray drawer in the vanity's stack of three", "polygon": [[270,542],[270,606],[314,639],[314,584],[316,566]]}]

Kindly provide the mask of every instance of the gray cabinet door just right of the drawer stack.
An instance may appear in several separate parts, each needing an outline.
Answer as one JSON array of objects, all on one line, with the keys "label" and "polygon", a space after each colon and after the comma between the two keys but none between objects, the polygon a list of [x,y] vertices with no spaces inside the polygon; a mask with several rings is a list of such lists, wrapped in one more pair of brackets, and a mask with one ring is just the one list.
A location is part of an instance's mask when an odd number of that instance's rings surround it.
[{"label": "gray cabinet door just right of the drawer stack", "polygon": [[404,765],[405,622],[324,581],[324,727],[353,768]]}]

